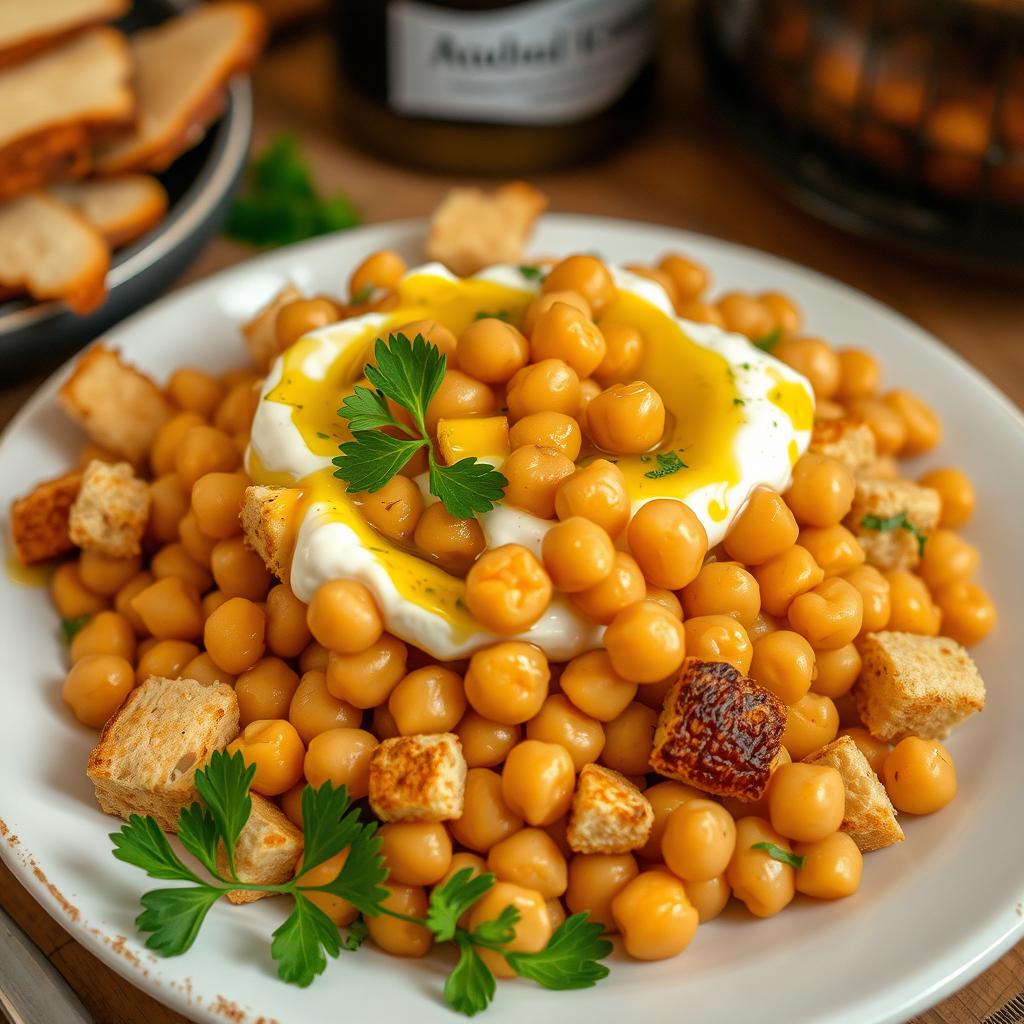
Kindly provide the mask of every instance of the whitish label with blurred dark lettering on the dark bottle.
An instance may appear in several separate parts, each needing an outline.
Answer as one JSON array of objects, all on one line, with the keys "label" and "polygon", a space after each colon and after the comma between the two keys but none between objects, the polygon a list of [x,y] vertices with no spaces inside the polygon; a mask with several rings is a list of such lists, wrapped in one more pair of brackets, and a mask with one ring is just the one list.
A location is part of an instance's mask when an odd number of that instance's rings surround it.
[{"label": "whitish label with blurred dark lettering on the dark bottle", "polygon": [[653,48],[655,0],[530,0],[502,10],[388,8],[398,114],[543,125],[606,110]]}]

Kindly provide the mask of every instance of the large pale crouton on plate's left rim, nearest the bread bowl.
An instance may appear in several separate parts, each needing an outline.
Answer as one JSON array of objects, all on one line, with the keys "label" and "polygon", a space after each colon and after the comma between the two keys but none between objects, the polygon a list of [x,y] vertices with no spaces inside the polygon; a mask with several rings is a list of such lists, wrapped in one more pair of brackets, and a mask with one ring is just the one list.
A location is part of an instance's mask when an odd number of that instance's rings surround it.
[{"label": "large pale crouton on plate's left rim, nearest the bread bowl", "polygon": [[100,447],[139,465],[174,408],[144,374],[104,345],[90,348],[57,394],[65,412]]}]

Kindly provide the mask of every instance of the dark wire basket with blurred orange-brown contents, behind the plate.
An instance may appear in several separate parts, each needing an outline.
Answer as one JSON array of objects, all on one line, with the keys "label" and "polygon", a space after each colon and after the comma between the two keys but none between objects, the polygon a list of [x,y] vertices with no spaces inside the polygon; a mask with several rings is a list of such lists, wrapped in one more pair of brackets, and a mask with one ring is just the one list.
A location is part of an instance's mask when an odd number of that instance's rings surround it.
[{"label": "dark wire basket with blurred orange-brown contents, behind the plate", "polygon": [[1024,271],[1024,0],[705,0],[716,93],[826,219]]}]

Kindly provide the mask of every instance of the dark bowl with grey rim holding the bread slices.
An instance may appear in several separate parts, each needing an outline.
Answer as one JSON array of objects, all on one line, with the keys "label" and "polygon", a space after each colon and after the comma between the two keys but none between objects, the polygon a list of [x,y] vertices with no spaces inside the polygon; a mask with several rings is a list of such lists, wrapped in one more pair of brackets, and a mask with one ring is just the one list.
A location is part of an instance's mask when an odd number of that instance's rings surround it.
[{"label": "dark bowl with grey rim holding the bread slices", "polygon": [[[127,32],[180,12],[178,0],[135,0],[120,28]],[[231,85],[224,113],[203,141],[158,175],[167,189],[165,218],[114,253],[106,301],[87,316],[60,302],[0,302],[0,370],[6,378],[55,364],[156,298],[221,228],[246,166],[252,133],[247,79]]]}]

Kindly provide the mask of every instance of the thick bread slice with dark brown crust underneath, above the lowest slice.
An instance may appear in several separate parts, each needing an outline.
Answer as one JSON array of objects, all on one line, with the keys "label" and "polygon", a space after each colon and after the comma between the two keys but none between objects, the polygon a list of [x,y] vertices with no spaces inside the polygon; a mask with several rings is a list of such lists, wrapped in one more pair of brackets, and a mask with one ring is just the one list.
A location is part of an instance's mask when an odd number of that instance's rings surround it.
[{"label": "thick bread slice with dark brown crust underneath, above the lowest slice", "polygon": [[82,177],[101,139],[135,117],[128,42],[92,29],[0,72],[0,200]]}]

